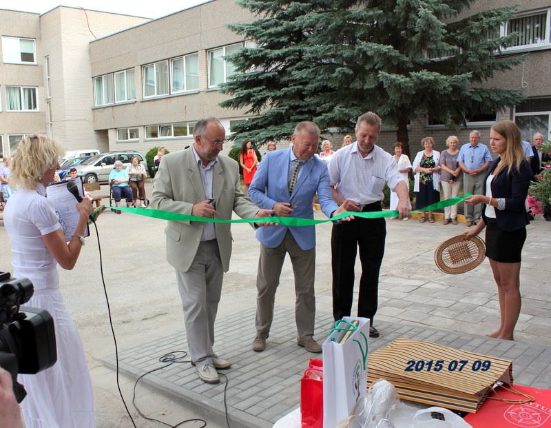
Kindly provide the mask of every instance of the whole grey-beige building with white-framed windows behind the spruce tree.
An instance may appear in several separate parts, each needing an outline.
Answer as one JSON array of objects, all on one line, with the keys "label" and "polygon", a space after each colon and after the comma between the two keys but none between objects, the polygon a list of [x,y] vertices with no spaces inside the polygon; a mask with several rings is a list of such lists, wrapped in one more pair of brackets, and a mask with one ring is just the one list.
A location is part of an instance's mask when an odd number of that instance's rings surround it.
[{"label": "whole grey-beige building with white-framed windows behind the spruce tree", "polygon": [[[478,1],[466,13],[503,3]],[[523,88],[527,101],[471,118],[460,130],[415,118],[408,130],[411,154],[422,150],[424,136],[433,136],[439,150],[450,134],[466,143],[474,129],[488,141],[499,119],[516,121],[524,139],[534,132],[551,137],[551,1],[506,3],[519,7],[501,32],[519,37],[504,54],[528,55],[487,85]],[[41,15],[0,10],[2,152],[9,154],[21,135],[32,132],[51,134],[67,150],[180,150],[191,144],[193,125],[205,116],[219,117],[230,135],[247,113],[218,105],[227,97],[219,85],[233,73],[224,56],[254,45],[227,23],[254,18],[234,0],[212,0],[155,20],[65,7]],[[340,147],[342,134],[324,136]],[[391,151],[395,138],[395,130],[384,127],[380,145]]]}]

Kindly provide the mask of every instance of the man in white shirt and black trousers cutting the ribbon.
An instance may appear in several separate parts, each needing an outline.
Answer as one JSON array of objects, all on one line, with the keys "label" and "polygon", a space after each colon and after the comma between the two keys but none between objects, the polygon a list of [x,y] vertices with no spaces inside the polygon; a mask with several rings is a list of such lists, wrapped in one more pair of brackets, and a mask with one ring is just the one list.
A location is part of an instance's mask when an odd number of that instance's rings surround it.
[{"label": "man in white shirt and black trousers cutting the ribbon", "polygon": [[[333,197],[337,203],[349,200],[349,211],[380,211],[384,183],[397,193],[399,217],[410,214],[409,191],[391,154],[377,147],[381,118],[373,112],[362,114],[356,123],[357,141],[337,150],[329,163]],[[362,277],[357,316],[369,318],[369,336],[378,337],[373,325],[377,312],[379,270],[384,256],[386,223],[384,218],[355,218],[333,225],[331,265],[333,269],[333,317],[349,316],[354,291],[354,265],[360,247]]]}]

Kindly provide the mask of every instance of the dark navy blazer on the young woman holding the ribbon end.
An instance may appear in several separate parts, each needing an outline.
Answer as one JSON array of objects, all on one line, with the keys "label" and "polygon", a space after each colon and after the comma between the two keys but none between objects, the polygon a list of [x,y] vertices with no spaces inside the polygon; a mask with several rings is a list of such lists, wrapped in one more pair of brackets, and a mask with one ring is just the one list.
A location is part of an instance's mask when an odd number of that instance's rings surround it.
[{"label": "dark navy blazer on the young woman holding the ribbon end", "polygon": [[[495,170],[499,159],[501,158],[498,156],[492,162],[486,173],[486,178]],[[513,165],[511,174],[508,174],[508,168],[505,168],[492,179],[492,198],[505,198],[505,210],[500,211],[497,208],[495,210],[495,218],[499,229],[512,232],[530,223],[524,206],[526,196],[528,196],[530,179],[532,179],[532,168],[526,159],[523,159],[520,171],[517,171],[517,168]],[[484,181],[484,193],[486,193],[486,181]],[[484,214],[485,211],[482,210],[482,218],[484,218],[484,223],[488,224]]]}]

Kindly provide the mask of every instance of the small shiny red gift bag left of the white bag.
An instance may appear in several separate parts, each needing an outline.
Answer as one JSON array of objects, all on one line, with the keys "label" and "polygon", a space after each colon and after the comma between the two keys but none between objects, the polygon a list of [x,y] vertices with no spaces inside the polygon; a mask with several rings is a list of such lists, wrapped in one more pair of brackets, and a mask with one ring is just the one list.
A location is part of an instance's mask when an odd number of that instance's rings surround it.
[{"label": "small shiny red gift bag left of the white bag", "polygon": [[319,366],[310,365],[300,379],[300,415],[302,428],[323,428],[323,371]]}]

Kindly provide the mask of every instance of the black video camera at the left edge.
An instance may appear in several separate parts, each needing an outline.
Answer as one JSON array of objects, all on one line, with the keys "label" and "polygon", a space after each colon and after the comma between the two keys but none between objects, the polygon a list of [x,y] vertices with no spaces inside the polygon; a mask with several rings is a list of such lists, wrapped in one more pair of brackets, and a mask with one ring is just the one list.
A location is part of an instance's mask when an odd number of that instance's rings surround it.
[{"label": "black video camera at the left edge", "polygon": [[27,278],[0,272],[0,367],[10,372],[17,402],[27,395],[17,374],[36,374],[57,360],[54,320],[48,311],[22,307],[34,293]]}]

